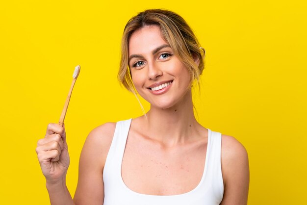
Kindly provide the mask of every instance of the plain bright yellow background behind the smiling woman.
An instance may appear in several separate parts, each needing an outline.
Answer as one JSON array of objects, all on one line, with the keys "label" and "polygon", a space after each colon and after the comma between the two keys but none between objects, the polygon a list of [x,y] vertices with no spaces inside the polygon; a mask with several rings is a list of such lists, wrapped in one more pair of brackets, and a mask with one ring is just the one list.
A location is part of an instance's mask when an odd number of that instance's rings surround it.
[{"label": "plain bright yellow background behind the smiling woman", "polygon": [[248,204],[306,203],[304,2],[2,0],[0,204],[49,204],[35,147],[47,124],[58,121],[77,64],[81,72],[65,119],[72,195],[90,130],[142,114],[116,75],[124,26],[147,8],[179,13],[205,48],[201,95],[195,92],[198,119],[248,150]]}]

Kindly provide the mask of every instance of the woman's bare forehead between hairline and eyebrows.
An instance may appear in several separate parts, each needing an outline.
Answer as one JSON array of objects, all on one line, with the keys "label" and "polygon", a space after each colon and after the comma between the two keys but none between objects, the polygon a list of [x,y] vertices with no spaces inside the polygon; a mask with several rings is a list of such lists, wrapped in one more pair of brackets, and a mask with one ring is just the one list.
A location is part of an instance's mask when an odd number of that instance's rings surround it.
[{"label": "woman's bare forehead between hairline and eyebrows", "polygon": [[129,39],[129,55],[149,53],[157,47],[168,44],[159,26],[144,26],[134,31]]}]

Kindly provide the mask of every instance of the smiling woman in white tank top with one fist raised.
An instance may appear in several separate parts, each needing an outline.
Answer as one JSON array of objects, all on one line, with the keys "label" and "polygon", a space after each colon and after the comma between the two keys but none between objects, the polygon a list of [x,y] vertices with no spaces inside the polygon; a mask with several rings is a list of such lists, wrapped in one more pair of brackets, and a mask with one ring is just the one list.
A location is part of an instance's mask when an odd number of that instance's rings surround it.
[{"label": "smiling woman in white tank top with one fist raised", "polygon": [[65,183],[65,128],[49,124],[36,151],[51,205],[246,205],[246,150],[233,137],[204,128],[193,113],[191,87],[204,55],[176,13],[153,9],[130,19],[119,79],[151,108],[90,132],[74,200]]}]

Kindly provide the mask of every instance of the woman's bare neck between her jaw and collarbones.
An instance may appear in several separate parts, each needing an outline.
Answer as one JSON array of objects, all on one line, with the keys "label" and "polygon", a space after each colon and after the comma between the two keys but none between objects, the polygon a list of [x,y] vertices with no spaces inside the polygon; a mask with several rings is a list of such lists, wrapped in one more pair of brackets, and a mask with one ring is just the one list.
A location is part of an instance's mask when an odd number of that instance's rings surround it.
[{"label": "woman's bare neck between her jaw and collarbones", "polygon": [[167,109],[151,106],[147,113],[149,137],[166,146],[184,143],[200,126],[195,119],[191,91],[181,102]]}]

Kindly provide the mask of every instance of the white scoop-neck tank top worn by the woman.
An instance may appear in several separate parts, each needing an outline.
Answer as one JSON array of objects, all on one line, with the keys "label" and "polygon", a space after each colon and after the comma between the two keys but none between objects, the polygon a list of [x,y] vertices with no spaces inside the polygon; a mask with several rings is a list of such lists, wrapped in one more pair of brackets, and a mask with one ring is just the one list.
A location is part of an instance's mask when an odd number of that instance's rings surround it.
[{"label": "white scoop-neck tank top worn by the woman", "polygon": [[191,191],[179,195],[147,195],[129,189],[121,175],[131,119],[119,121],[103,169],[103,205],[219,205],[224,185],[221,169],[221,138],[219,132],[208,129],[205,168],[200,183]]}]

